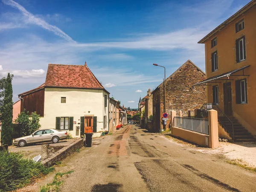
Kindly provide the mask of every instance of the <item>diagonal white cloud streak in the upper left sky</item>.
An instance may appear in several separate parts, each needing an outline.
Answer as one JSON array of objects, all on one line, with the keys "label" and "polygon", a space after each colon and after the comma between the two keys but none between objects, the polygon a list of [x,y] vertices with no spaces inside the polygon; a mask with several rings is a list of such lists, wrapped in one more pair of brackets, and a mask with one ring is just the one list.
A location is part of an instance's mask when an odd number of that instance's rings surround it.
[{"label": "diagonal white cloud streak in the upper left sky", "polygon": [[66,39],[67,41],[75,42],[75,41],[73,41],[73,39],[70,36],[68,36],[66,33],[64,33],[57,26],[53,26],[53,25],[47,23],[45,20],[41,19],[40,17],[37,17],[37,16],[33,15],[32,13],[28,12],[19,3],[16,3],[13,0],[2,0],[2,1],[6,5],[17,8],[22,13],[22,15],[24,16],[24,19],[25,19],[24,22],[25,23],[32,23],[32,24],[41,26],[42,28],[53,32],[55,35],[58,35],[59,37]]}]

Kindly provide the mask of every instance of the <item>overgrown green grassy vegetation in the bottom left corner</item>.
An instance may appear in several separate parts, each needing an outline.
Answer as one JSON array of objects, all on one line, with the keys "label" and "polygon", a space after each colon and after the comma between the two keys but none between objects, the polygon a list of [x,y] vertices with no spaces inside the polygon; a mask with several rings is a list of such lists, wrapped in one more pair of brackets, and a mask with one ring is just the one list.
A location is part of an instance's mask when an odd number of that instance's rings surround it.
[{"label": "overgrown green grassy vegetation in the bottom left corner", "polygon": [[42,163],[24,159],[22,154],[0,151],[0,192],[12,191],[26,186],[36,177],[54,170]]}]

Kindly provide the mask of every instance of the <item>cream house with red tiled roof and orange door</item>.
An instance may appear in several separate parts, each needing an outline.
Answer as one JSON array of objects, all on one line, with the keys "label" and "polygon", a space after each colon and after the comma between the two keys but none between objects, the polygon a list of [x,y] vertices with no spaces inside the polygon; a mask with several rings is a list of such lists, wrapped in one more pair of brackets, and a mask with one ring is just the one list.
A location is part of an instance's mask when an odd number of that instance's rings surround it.
[{"label": "cream house with red tiled roof and orange door", "polygon": [[108,130],[109,92],[87,64],[49,64],[45,83],[21,93],[20,109],[40,114],[41,128],[68,130],[73,137]]}]

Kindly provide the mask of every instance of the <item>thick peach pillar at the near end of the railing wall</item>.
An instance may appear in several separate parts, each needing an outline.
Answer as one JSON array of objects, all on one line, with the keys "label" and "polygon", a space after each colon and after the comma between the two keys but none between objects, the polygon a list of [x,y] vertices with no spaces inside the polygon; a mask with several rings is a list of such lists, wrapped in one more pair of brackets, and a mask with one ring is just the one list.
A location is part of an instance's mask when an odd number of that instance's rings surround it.
[{"label": "thick peach pillar at the near end of the railing wall", "polygon": [[215,110],[208,111],[209,118],[209,148],[218,147],[218,114]]}]

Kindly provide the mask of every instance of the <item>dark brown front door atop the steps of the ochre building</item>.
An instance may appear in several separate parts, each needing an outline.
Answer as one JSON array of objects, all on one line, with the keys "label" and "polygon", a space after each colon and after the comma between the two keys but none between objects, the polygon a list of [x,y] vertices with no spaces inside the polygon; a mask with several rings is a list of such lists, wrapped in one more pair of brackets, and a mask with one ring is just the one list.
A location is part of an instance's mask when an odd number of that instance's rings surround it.
[{"label": "dark brown front door atop the steps of the ochre building", "polygon": [[224,93],[224,113],[226,115],[232,115],[232,92],[231,92],[231,82],[223,84]]}]

